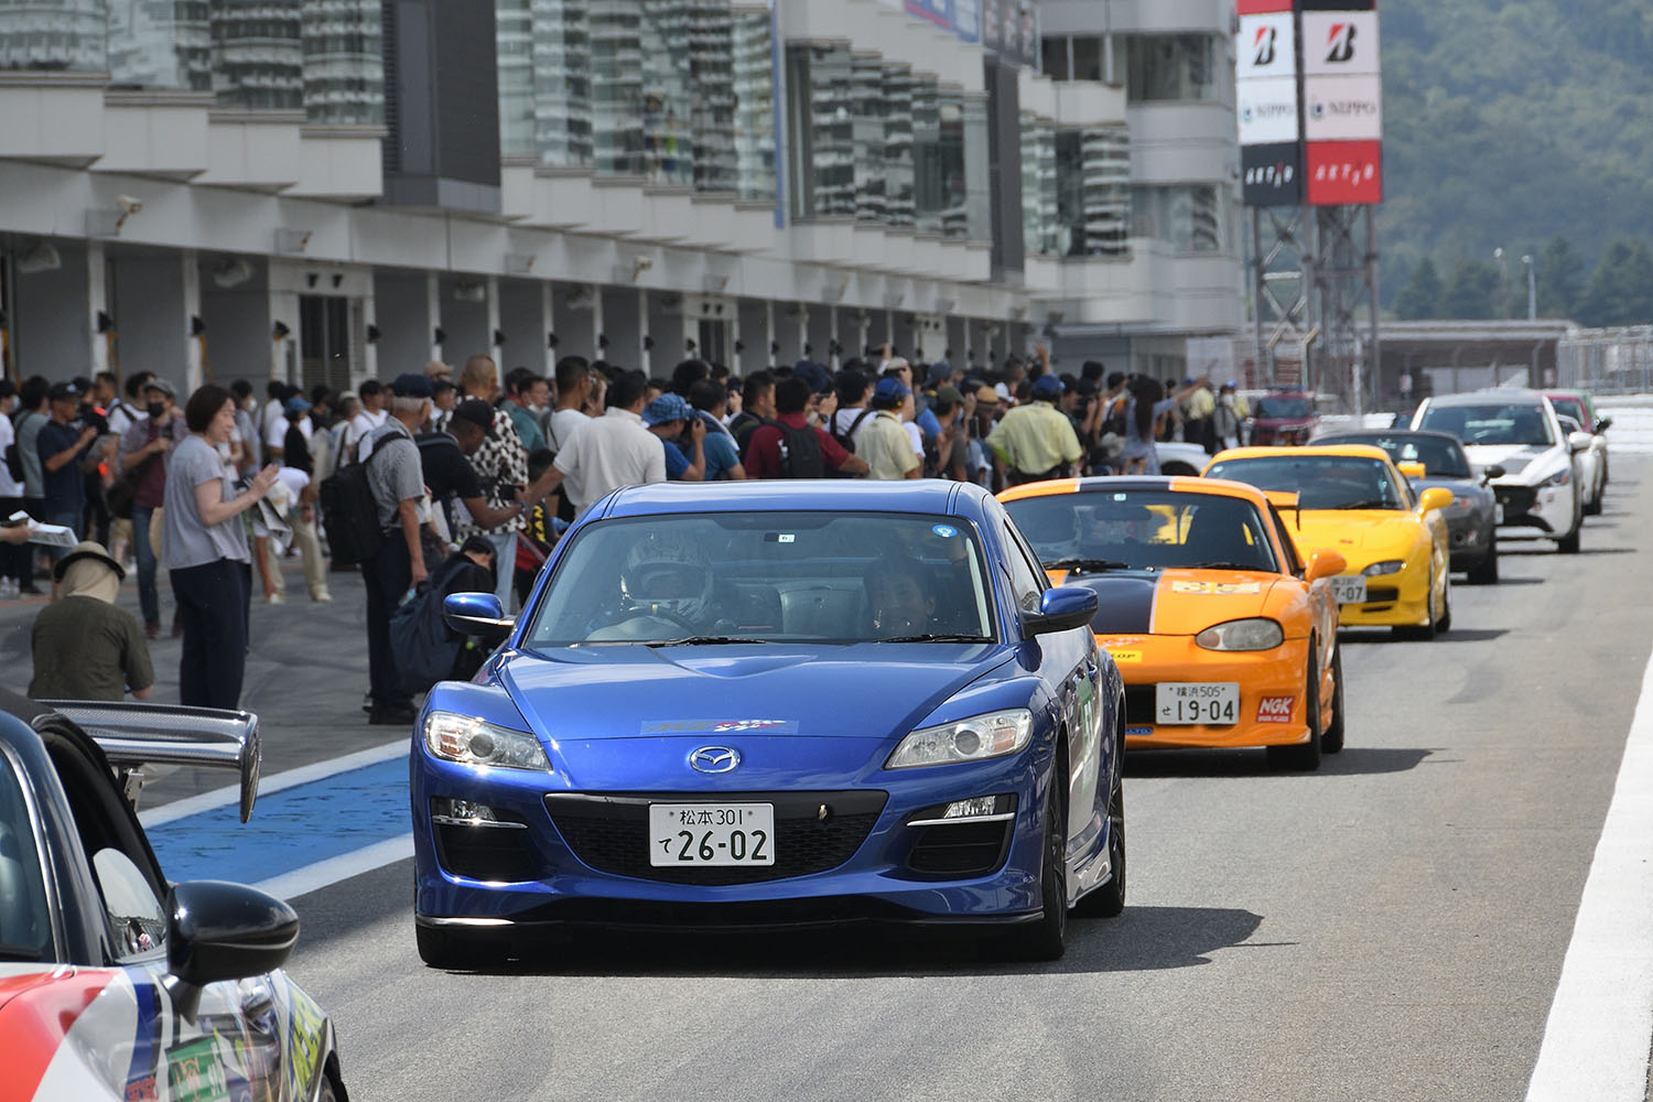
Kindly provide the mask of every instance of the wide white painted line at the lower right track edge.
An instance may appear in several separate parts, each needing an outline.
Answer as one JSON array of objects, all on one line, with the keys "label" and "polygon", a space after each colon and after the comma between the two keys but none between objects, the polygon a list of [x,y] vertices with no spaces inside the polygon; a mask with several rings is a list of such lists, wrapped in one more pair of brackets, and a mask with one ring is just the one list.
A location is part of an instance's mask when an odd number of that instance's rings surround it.
[{"label": "wide white painted line at the lower right track edge", "polygon": [[1653,1044],[1653,661],[1584,884],[1527,1102],[1643,1102]]}]

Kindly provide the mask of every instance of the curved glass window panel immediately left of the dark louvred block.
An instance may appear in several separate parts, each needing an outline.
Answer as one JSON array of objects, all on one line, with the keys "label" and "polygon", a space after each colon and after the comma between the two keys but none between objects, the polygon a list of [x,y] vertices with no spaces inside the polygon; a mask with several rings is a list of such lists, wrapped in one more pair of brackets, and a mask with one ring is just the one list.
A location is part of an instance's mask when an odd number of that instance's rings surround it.
[{"label": "curved glass window panel immediately left of the dark louvred block", "polygon": [[304,112],[312,122],[383,124],[382,13],[375,0],[304,0]]}]

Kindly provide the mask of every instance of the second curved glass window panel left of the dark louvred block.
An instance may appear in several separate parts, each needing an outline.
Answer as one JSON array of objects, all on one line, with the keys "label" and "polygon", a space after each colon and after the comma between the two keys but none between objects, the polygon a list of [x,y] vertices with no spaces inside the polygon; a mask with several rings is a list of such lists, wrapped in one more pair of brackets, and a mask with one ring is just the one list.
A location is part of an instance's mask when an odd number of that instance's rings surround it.
[{"label": "second curved glass window panel left of the dark louvred block", "polygon": [[222,107],[304,107],[299,0],[213,0],[212,91]]}]

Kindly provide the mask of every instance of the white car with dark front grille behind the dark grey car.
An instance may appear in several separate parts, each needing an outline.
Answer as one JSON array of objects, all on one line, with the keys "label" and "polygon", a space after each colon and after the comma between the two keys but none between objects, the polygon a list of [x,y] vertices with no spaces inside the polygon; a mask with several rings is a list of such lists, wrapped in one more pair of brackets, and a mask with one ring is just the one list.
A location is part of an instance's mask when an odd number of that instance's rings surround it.
[{"label": "white car with dark front grille behind the dark grey car", "polygon": [[1451,433],[1470,463],[1491,476],[1499,527],[1537,529],[1564,555],[1579,552],[1585,487],[1579,454],[1590,435],[1569,435],[1549,398],[1534,390],[1483,390],[1428,398],[1412,428]]}]

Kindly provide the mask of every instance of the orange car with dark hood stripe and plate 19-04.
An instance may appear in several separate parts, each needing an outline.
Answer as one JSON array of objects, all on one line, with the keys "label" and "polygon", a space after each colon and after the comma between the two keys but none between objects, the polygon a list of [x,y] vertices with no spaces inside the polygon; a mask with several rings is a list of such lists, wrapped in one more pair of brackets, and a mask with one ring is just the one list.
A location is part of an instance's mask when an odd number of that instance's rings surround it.
[{"label": "orange car with dark hood stripe and plate 19-04", "polygon": [[[1278,497],[1278,496],[1274,496]],[[1344,742],[1336,552],[1304,565],[1270,496],[1197,477],[1033,482],[1000,496],[1058,585],[1101,596],[1126,747],[1268,747],[1317,768]]]}]

